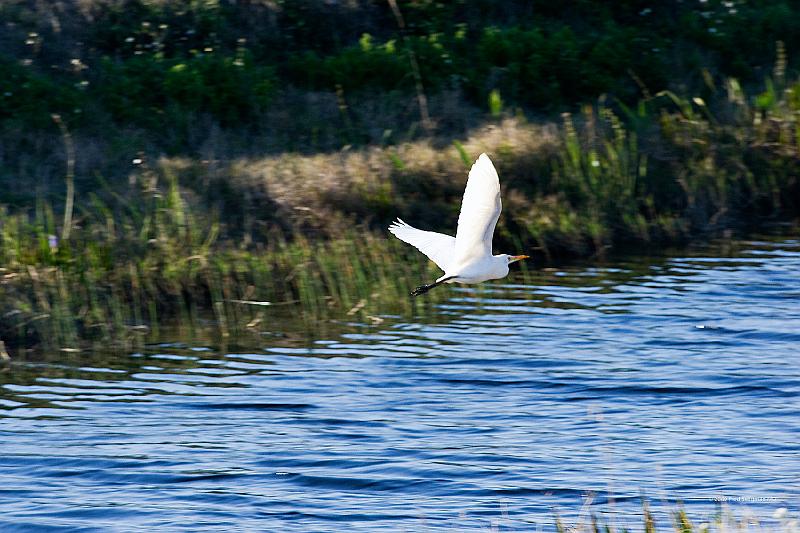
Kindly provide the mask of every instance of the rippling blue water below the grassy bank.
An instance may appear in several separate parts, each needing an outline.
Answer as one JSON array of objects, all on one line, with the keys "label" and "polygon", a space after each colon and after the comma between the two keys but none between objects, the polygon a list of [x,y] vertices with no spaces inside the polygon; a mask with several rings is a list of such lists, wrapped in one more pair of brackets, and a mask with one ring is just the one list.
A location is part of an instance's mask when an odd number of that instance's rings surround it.
[{"label": "rippling blue water below the grassy bank", "polygon": [[16,360],[0,529],[536,531],[584,504],[639,529],[642,494],[660,520],[797,513],[800,241],[518,281],[327,340]]}]

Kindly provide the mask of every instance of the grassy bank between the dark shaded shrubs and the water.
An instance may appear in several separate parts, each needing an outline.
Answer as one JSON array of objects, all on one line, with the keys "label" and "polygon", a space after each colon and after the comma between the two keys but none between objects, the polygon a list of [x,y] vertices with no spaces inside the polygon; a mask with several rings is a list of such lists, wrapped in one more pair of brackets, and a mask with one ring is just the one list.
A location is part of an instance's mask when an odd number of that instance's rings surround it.
[{"label": "grassy bank between the dark shaded shrubs and the water", "polygon": [[273,306],[309,322],[412,312],[429,300],[408,290],[436,269],[383,228],[400,215],[452,229],[466,171],[483,151],[504,189],[496,247],[539,264],[791,220],[800,213],[800,84],[784,67],[755,95],[729,79],[708,101],[601,100],[556,124],[498,118],[444,145],[143,157],[125,187],[91,193],[71,185],[63,128],[63,204],[0,210],[0,339],[126,345],[167,321],[235,335],[257,332]]}]

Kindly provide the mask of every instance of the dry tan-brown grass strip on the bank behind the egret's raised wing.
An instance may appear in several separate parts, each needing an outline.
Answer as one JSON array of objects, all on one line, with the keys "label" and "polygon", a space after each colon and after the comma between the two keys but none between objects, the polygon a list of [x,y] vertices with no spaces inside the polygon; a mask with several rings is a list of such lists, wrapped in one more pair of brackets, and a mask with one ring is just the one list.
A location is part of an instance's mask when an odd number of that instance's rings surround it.
[{"label": "dry tan-brown grass strip on the bank behind the egret's raised wing", "polygon": [[[233,191],[275,211],[262,212],[292,230],[335,233],[353,221],[386,222],[385,217],[408,216],[428,206],[447,204],[443,214],[457,214],[471,161],[482,152],[495,161],[501,183],[535,179],[542,161],[559,144],[554,124],[533,125],[509,118],[473,131],[460,146],[440,146],[435,140],[406,142],[390,147],[313,155],[284,153],[242,157],[232,161],[197,162],[163,158],[159,166],[179,175],[193,175],[196,183],[225,180]],[[462,152],[463,150],[463,152]],[[463,155],[462,155],[463,153]],[[420,198],[425,194],[425,198]],[[377,213],[376,213],[377,211]],[[418,213],[419,214],[419,213]],[[446,220],[431,222],[443,225]]]}]

